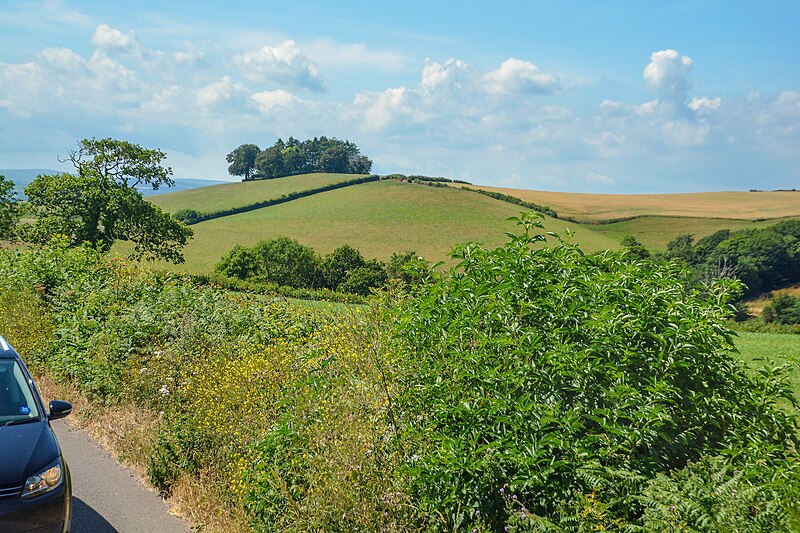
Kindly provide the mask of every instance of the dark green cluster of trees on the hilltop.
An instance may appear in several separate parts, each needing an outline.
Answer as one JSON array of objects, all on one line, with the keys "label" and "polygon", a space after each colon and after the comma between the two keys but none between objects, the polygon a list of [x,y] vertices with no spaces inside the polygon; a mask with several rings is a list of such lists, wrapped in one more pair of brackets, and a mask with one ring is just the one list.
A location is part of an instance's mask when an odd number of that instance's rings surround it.
[{"label": "dark green cluster of trees on the hilltop", "polygon": [[242,181],[279,178],[309,172],[369,174],[372,161],[358,146],[334,137],[314,137],[299,141],[278,139],[264,150],[255,144],[243,144],[225,158],[232,176]]}]

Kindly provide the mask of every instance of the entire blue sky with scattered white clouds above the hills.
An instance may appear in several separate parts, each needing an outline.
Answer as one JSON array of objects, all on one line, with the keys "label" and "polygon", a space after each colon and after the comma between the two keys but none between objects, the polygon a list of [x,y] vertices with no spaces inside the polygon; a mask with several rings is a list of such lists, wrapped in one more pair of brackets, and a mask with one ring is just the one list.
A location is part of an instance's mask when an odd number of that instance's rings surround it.
[{"label": "entire blue sky with scattered white clouds above the hills", "polygon": [[88,137],[176,177],[278,137],[379,173],[576,192],[800,188],[800,2],[0,1],[0,168]]}]

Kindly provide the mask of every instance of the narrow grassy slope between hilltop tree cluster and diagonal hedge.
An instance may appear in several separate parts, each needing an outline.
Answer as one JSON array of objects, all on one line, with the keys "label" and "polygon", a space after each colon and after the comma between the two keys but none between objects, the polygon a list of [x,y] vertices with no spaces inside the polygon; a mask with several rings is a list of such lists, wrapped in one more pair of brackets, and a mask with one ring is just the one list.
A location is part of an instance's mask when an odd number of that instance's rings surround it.
[{"label": "narrow grassy slope between hilltop tree cluster and diagonal hedge", "polygon": [[263,202],[291,192],[315,189],[351,180],[361,175],[363,174],[303,174],[272,180],[225,183],[161,194],[148,199],[170,213],[181,209],[194,209],[208,213]]}]

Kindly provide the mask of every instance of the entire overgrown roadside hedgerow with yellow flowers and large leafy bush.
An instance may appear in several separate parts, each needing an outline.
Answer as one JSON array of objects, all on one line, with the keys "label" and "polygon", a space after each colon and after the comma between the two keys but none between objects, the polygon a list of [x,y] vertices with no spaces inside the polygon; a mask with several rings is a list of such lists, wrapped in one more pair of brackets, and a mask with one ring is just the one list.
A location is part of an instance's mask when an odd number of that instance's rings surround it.
[{"label": "entire overgrown roadside hedgerow with yellow flowers and large leafy bush", "polygon": [[213,483],[255,531],[800,528],[796,402],[732,359],[736,283],[519,222],[344,309],[0,251],[0,330],[97,403],[157,413],[151,482]]}]

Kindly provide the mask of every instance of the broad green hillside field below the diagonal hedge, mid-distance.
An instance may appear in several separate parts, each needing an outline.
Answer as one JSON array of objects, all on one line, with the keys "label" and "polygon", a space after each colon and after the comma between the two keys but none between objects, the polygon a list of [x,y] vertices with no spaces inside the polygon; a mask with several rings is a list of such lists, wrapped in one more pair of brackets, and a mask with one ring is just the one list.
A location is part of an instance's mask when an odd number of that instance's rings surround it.
[{"label": "broad green hillside field below the diagonal hedge, mid-distance", "polygon": [[[437,261],[446,259],[457,243],[501,244],[505,232],[514,230],[508,217],[523,210],[448,187],[367,183],[196,224],[192,226],[195,237],[185,249],[186,263],[179,268],[208,272],[234,245],[252,246],[278,236],[297,239],[322,253],[347,243],[367,258],[387,259],[392,252],[415,250]],[[579,224],[547,219],[546,227],[559,233],[567,227],[574,229],[576,242],[586,250],[619,246]]]}]

